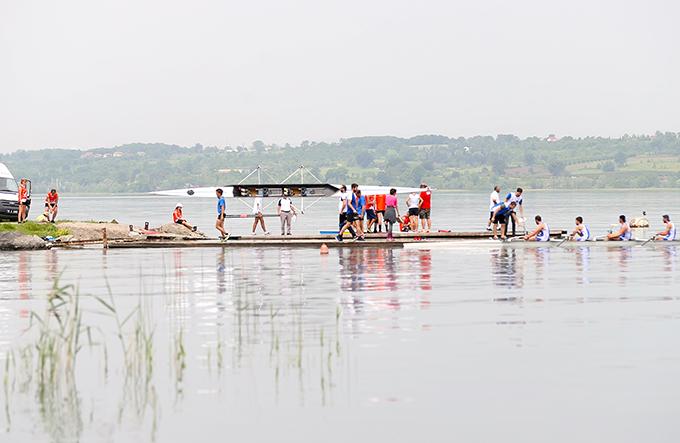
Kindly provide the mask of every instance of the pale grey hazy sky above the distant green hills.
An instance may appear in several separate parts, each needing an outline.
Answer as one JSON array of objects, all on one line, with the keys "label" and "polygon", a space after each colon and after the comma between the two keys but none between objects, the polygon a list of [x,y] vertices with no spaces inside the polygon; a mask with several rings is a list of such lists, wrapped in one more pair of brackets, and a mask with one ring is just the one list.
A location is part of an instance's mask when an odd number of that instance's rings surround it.
[{"label": "pale grey hazy sky above the distant green hills", "polygon": [[680,131],[677,1],[0,0],[0,152]]}]

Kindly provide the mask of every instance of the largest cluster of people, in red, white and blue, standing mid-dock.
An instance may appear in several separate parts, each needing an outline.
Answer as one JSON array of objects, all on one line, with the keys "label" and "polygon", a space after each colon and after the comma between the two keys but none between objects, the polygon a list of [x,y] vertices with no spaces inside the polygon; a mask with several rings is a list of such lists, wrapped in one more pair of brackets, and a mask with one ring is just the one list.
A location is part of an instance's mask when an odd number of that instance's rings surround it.
[{"label": "largest cluster of people, in red, white and blue, standing mid-dock", "polygon": [[387,240],[391,241],[394,239],[395,224],[400,223],[402,226],[408,226],[410,231],[417,231],[419,219],[421,230],[430,232],[432,190],[425,183],[420,185],[420,189],[420,193],[412,192],[406,198],[408,215],[402,218],[396,188],[391,188],[389,194],[362,195],[356,183],[352,183],[350,192],[347,191],[347,186],[341,185],[338,202],[340,230],[335,237],[336,240],[343,241],[343,234],[349,231],[356,241],[365,241],[365,233],[380,233],[384,226]]}]

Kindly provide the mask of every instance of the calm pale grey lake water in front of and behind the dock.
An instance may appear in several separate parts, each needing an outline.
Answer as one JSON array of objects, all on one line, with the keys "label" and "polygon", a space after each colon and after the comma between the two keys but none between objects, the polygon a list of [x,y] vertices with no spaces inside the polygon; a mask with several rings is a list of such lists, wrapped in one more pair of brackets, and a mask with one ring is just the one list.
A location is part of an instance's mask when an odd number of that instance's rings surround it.
[{"label": "calm pale grey lake water in front of and behind the dock", "polygon": [[[65,218],[125,223],[165,221],[175,202],[67,197]],[[478,230],[487,198],[438,195],[435,227]],[[577,214],[600,231],[620,212],[647,210],[654,228],[662,213],[680,217],[674,192],[526,202],[557,227]],[[212,202],[184,203],[212,224]],[[332,228],[334,207],[311,209],[299,232]],[[677,441],[678,252],[2,252],[0,441]],[[67,353],[37,351],[57,278],[76,287],[62,295],[64,322],[80,294],[73,377],[59,376]],[[40,378],[41,355],[57,362],[54,383]]]}]

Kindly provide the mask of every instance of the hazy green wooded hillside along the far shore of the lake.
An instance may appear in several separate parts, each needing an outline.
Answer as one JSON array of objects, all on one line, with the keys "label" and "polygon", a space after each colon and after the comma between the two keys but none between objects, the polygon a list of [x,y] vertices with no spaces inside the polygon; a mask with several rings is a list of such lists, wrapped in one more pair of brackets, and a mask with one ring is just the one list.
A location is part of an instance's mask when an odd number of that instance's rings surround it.
[{"label": "hazy green wooded hillside along the far shore of the lake", "polygon": [[[416,185],[440,189],[680,187],[680,133],[621,138],[514,135],[451,138],[354,137],[299,146],[182,147],[132,143],[90,150],[43,149],[0,155],[40,192],[148,192],[226,185],[262,165],[285,178],[304,164],[332,183]],[[269,177],[267,177],[269,179]]]}]

